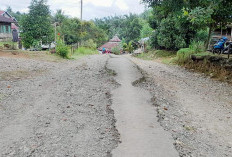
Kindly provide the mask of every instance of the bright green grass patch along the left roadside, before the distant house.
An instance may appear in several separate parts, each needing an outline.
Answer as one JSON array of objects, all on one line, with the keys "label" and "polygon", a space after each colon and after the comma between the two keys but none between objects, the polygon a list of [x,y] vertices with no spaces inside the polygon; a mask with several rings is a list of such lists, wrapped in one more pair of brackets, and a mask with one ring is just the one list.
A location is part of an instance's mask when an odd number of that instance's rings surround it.
[{"label": "bright green grass patch along the left roadside, before the distant house", "polygon": [[80,59],[84,56],[99,54],[99,52],[95,49],[79,47],[74,54],[71,56],[71,59]]}]

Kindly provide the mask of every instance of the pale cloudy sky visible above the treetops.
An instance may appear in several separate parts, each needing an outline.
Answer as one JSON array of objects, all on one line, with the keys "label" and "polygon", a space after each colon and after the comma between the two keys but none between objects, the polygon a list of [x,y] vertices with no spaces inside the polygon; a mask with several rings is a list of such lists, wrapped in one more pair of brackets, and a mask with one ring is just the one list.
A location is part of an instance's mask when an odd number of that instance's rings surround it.
[{"label": "pale cloudy sky visible above the treetops", "polygon": [[[141,13],[144,6],[141,0],[83,0],[83,18],[90,20],[111,15]],[[28,12],[31,0],[0,0],[0,9],[11,6],[13,11]],[[52,12],[62,9],[65,14],[80,17],[80,0],[48,0]]]}]

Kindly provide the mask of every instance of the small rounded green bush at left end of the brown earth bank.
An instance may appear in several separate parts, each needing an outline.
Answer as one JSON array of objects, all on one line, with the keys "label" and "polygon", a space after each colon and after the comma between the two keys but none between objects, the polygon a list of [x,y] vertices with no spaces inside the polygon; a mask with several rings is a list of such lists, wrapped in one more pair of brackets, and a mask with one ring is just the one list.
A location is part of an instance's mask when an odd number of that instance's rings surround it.
[{"label": "small rounded green bush at left end of the brown earth bank", "polygon": [[190,48],[183,48],[183,49],[180,49],[178,52],[177,52],[177,55],[176,55],[176,58],[175,58],[175,61],[178,63],[178,64],[184,64],[186,63],[189,59],[190,59],[190,55],[191,54],[194,54],[194,50],[190,49]]}]

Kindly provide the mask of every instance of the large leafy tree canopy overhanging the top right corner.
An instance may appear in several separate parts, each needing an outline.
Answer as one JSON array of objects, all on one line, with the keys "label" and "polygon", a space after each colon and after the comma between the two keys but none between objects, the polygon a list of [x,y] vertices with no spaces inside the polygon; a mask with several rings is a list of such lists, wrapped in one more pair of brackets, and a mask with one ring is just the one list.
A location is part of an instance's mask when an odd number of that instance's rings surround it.
[{"label": "large leafy tree canopy overhanging the top right corner", "polygon": [[[162,20],[172,15],[184,19],[183,29],[190,27],[187,32],[192,31],[189,37],[194,38],[197,31],[209,28],[208,40],[209,43],[211,32],[218,25],[226,25],[232,19],[232,1],[231,0],[143,0],[153,8],[153,15],[149,23],[152,28],[159,29]],[[185,19],[182,15],[187,16]],[[195,31],[193,31],[195,28]],[[191,34],[191,33],[190,33]],[[189,39],[187,38],[186,46]]]}]

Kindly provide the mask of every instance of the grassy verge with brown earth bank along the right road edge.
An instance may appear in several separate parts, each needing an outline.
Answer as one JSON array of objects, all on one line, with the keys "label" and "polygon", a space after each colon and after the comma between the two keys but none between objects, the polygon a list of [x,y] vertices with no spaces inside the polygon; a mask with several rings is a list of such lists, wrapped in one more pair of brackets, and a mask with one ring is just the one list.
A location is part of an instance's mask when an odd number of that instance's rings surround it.
[{"label": "grassy verge with brown earth bank along the right road edge", "polygon": [[144,60],[155,60],[164,64],[177,64],[191,71],[203,73],[214,80],[232,83],[232,71],[230,69],[219,64],[211,63],[207,59],[193,61],[190,57],[191,55],[200,58],[208,58],[209,56],[221,56],[227,58],[227,55],[217,55],[206,51],[196,53],[190,48],[184,48],[178,52],[153,50],[148,53],[139,54],[136,57]]}]

